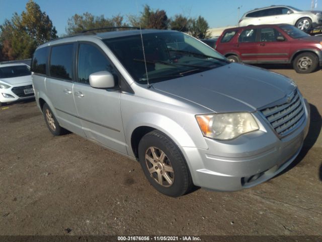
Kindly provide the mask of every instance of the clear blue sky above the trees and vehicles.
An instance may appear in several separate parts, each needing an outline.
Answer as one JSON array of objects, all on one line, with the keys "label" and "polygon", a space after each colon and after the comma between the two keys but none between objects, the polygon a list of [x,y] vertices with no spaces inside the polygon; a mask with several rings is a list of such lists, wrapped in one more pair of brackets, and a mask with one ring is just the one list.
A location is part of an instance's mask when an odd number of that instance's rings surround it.
[{"label": "clear blue sky above the trees and vehicles", "polygon": [[[316,0],[314,0],[316,1]],[[28,0],[0,0],[0,24],[10,19],[13,13],[21,14]],[[237,23],[237,8],[240,15],[255,8],[271,5],[289,5],[302,10],[310,10],[311,0],[35,0],[42,11],[45,11],[57,29],[58,35],[65,33],[67,20],[74,14],[90,12],[93,15],[104,15],[110,18],[121,14],[138,15],[144,4],[152,9],[163,9],[168,17],[183,14],[188,17],[203,16],[210,28],[225,27]],[[317,0],[317,9],[322,10],[322,0]],[[240,16],[239,16],[240,17]]]}]

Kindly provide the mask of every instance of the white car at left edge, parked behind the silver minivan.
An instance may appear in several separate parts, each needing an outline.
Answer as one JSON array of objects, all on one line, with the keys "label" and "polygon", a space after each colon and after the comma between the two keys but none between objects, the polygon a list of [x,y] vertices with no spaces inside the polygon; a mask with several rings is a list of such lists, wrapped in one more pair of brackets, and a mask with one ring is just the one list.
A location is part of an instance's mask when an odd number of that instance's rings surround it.
[{"label": "white car at left edge, parked behind the silver minivan", "polygon": [[30,67],[26,64],[0,65],[0,106],[34,97]]}]

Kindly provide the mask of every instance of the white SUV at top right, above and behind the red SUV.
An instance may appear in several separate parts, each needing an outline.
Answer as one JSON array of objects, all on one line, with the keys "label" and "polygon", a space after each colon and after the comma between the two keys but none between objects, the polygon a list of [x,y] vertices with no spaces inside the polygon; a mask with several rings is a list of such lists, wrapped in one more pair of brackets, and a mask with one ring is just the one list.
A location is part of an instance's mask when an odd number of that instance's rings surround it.
[{"label": "white SUV at top right, above and behind the red SUV", "polygon": [[247,12],[238,26],[261,24],[290,24],[301,30],[322,25],[321,11],[302,11],[290,6],[271,6]]}]

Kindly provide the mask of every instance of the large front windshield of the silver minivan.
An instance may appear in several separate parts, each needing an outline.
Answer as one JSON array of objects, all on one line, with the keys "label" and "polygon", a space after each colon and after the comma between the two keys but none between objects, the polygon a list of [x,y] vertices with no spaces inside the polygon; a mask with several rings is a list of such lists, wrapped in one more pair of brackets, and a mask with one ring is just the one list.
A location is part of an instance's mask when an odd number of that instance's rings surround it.
[{"label": "large front windshield of the silver minivan", "polygon": [[[105,44],[140,84],[166,81],[227,65],[229,61],[195,38],[174,31],[105,39]],[[147,75],[146,75],[147,72]]]}]

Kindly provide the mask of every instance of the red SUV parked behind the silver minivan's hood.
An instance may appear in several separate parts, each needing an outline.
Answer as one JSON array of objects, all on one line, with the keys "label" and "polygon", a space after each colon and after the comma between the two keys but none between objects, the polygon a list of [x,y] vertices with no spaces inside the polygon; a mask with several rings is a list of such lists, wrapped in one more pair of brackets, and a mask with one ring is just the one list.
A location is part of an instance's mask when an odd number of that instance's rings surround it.
[{"label": "red SUV parked behind the silver minivan's hood", "polygon": [[292,64],[297,73],[322,66],[322,36],[310,36],[288,24],[226,29],[216,50],[231,62]]}]

